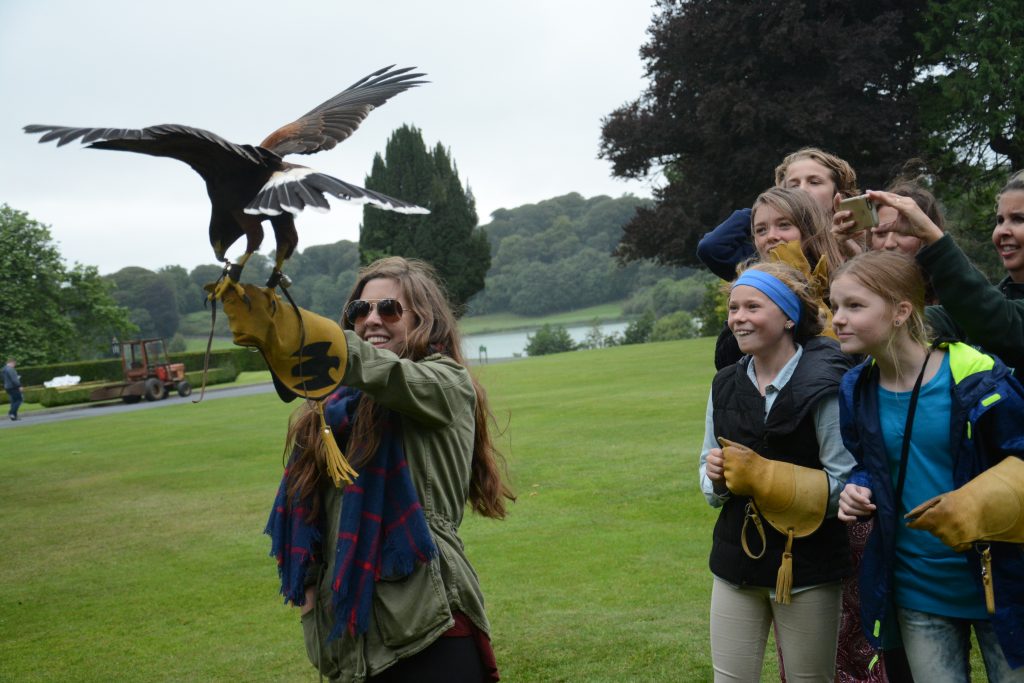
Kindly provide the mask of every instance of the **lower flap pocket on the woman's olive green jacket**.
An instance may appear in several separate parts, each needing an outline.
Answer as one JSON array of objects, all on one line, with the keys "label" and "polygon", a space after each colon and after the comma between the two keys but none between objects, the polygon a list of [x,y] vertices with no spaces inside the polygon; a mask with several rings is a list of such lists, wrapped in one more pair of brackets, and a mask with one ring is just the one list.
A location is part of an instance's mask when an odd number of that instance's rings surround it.
[{"label": "lower flap pocket on the woman's olive green jacket", "polygon": [[418,563],[408,577],[377,582],[374,617],[381,641],[391,648],[400,648],[451,621],[438,561]]}]

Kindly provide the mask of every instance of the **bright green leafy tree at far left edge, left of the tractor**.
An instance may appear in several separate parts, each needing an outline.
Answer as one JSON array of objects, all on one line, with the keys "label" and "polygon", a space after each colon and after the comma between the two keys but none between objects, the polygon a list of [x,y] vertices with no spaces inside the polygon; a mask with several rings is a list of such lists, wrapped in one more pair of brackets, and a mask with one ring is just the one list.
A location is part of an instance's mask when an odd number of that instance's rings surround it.
[{"label": "bright green leafy tree at far left edge, left of the tractor", "polygon": [[91,357],[134,331],[94,266],[68,268],[49,229],[0,205],[0,352],[25,366]]}]

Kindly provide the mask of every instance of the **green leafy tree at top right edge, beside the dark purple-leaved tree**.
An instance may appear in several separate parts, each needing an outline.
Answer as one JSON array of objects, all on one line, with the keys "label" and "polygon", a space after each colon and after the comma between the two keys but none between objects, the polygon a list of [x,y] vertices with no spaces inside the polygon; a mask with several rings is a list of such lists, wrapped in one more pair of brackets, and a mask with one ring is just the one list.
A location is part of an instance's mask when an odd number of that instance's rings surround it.
[{"label": "green leafy tree at top right edge, beside the dark purple-leaved tree", "polygon": [[1024,168],[1024,13],[1018,0],[932,0],[913,94],[929,180],[957,243],[989,278],[995,193]]}]

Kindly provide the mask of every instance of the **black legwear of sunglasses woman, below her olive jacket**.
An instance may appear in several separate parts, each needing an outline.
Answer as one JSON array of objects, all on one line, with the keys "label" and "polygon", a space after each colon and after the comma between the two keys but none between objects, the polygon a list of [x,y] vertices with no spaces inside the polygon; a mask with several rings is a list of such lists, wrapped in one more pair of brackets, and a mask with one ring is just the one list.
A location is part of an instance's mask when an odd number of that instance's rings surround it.
[{"label": "black legwear of sunglasses woman, below her olive jacket", "polygon": [[472,637],[441,637],[399,659],[367,683],[481,683],[483,667]]}]

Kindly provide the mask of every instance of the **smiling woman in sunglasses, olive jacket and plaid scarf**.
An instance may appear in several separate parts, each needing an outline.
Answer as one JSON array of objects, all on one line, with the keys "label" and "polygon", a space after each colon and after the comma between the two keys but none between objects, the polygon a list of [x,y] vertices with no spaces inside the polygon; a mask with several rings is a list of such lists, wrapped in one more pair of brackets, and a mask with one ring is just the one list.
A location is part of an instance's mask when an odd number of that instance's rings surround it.
[{"label": "smiling woman in sunglasses, olive jacket and plaid scarf", "polygon": [[332,681],[497,680],[458,530],[467,501],[501,519],[514,498],[455,316],[429,265],[391,257],[360,271],[342,327],[347,365],[324,413],[358,476],[334,485],[317,415],[300,410],[268,524],[308,540],[301,552],[274,544],[279,563],[301,565],[282,571],[302,575],[306,651]]}]

